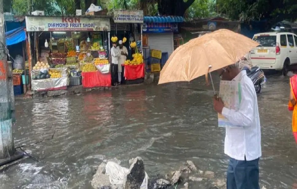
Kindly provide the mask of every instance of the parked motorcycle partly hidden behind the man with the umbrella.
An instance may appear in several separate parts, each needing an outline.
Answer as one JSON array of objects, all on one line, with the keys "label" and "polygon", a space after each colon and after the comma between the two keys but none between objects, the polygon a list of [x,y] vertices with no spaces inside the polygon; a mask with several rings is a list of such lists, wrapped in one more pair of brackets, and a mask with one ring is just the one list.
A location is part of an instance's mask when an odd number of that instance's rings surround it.
[{"label": "parked motorcycle partly hidden behind the man with the umbrella", "polygon": [[254,66],[251,69],[246,67],[243,69],[246,70],[246,75],[253,81],[256,93],[259,94],[261,86],[266,82],[264,72],[258,66]]}]

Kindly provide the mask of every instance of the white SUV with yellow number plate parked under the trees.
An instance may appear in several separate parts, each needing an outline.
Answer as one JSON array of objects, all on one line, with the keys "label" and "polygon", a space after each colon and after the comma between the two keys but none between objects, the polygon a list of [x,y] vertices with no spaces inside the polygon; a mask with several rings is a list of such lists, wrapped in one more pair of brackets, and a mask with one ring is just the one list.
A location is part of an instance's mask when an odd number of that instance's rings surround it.
[{"label": "white SUV with yellow number plate parked under the trees", "polygon": [[282,70],[287,75],[289,66],[297,64],[297,35],[294,33],[258,33],[253,40],[261,44],[250,52],[253,66]]}]

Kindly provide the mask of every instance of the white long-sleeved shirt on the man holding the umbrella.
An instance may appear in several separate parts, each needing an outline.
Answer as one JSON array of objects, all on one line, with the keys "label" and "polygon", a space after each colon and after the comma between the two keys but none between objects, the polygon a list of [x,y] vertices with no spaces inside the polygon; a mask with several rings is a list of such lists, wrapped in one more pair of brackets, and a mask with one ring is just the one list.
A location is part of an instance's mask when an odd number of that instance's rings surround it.
[{"label": "white long-sleeved shirt on the man holding the umbrella", "polygon": [[241,83],[239,110],[223,108],[222,115],[239,127],[226,127],[225,154],[251,161],[261,156],[261,131],[257,95],[252,80],[241,71],[233,81]]}]

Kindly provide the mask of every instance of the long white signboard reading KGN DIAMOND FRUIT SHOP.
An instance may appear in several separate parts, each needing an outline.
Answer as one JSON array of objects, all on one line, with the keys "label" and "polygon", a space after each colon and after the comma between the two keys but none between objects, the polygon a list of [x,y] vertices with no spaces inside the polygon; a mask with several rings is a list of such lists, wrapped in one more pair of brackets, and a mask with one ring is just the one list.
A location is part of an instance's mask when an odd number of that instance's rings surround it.
[{"label": "long white signboard reading KGN DIAMOND FRUIT SHOP", "polygon": [[27,32],[42,31],[110,31],[109,18],[26,17]]}]

